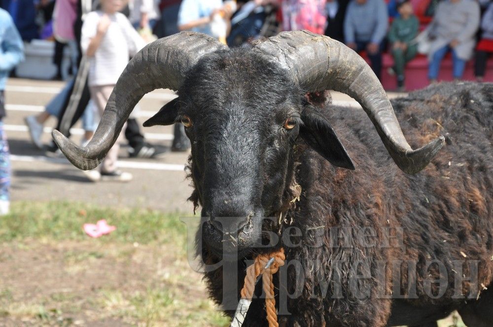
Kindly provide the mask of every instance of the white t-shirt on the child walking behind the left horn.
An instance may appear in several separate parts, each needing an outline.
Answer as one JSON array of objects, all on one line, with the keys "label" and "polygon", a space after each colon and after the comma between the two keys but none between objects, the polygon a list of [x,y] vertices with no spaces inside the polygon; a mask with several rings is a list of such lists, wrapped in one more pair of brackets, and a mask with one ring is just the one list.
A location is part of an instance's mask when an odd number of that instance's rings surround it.
[{"label": "white t-shirt on the child walking behind the left horn", "polygon": [[[104,15],[102,11],[92,11],[86,15],[82,25],[80,47],[87,52],[91,38],[96,36],[98,24]],[[135,55],[145,42],[130,25],[125,15],[117,12],[109,15],[111,24],[100,46],[89,59],[89,86],[114,85],[128,64],[130,56]]]}]

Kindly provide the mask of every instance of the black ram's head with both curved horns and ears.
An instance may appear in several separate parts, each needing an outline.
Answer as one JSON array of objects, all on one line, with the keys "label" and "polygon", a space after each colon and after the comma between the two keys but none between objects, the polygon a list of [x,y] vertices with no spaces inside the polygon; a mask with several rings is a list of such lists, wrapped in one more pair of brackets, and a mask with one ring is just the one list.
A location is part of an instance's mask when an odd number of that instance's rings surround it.
[{"label": "black ram's head with both curved horns and ears", "polygon": [[[229,232],[237,233],[234,250],[240,253],[259,240],[261,217],[282,206],[298,139],[330,163],[354,168],[307,93],[336,90],[356,99],[407,173],[423,169],[443,145],[438,138],[412,150],[369,66],[343,44],[304,31],[281,33],[251,49],[229,49],[190,32],[159,39],[128,64],[87,147],[57,131],[55,142],[75,166],[96,167],[137,102],[158,88],[175,90],[178,98],[144,126],[185,126],[192,143],[192,178],[207,220],[204,241],[218,253]],[[226,227],[219,217],[235,218],[226,220]]]}]

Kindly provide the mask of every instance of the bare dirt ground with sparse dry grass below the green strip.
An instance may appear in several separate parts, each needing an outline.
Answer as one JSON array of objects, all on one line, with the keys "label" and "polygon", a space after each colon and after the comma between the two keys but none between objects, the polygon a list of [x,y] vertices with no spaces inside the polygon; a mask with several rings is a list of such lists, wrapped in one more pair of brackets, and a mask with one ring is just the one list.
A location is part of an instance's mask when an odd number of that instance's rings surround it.
[{"label": "bare dirt ground with sparse dry grass below the green strip", "polygon": [[223,326],[200,274],[163,247],[1,244],[0,326]]}]

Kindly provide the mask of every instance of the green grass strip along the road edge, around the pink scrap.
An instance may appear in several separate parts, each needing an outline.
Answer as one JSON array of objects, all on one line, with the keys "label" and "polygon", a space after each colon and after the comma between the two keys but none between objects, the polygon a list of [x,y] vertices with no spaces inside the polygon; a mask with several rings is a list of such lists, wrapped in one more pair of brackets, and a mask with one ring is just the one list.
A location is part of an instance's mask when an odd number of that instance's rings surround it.
[{"label": "green grass strip along the road edge, around the pink scrap", "polygon": [[100,219],[117,227],[113,233],[101,237],[102,242],[183,242],[186,225],[179,220],[180,216],[190,215],[148,209],[100,208],[73,202],[14,202],[11,213],[0,219],[0,242],[25,238],[87,239],[82,225]]}]

